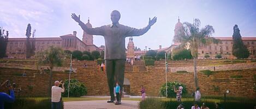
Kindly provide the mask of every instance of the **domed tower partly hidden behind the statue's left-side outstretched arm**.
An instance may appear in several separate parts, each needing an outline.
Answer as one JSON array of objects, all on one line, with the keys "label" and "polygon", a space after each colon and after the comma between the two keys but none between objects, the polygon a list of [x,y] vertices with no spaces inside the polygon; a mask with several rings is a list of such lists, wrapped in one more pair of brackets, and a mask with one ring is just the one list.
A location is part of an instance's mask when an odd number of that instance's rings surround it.
[{"label": "domed tower partly hidden behind the statue's left-side outstretched arm", "polygon": [[[88,22],[85,24],[88,28],[92,28],[92,24],[90,23],[90,20],[88,18]],[[93,36],[90,34],[87,34],[84,31],[84,34],[82,35],[82,42],[84,42],[87,45],[92,45],[93,44]]]}]

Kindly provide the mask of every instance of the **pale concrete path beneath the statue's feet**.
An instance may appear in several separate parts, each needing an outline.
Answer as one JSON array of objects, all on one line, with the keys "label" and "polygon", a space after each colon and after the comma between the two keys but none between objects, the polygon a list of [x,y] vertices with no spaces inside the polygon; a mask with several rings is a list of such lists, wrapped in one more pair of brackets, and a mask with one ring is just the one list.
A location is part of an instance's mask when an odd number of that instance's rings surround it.
[{"label": "pale concrete path beneath the statue's feet", "polygon": [[106,103],[106,100],[67,101],[64,109],[138,109],[139,101],[122,100],[121,105]]}]

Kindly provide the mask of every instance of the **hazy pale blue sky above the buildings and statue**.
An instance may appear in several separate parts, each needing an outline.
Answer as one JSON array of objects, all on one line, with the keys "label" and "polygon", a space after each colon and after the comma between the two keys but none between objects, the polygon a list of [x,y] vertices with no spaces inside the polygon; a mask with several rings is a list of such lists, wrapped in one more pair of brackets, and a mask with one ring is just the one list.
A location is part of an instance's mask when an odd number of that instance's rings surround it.
[{"label": "hazy pale blue sky above the buildings and statue", "polygon": [[[0,27],[9,30],[9,37],[26,37],[27,24],[31,23],[36,37],[58,37],[76,30],[82,39],[82,29],[71,13],[80,14],[85,23],[90,17],[92,26],[99,27],[111,23],[112,10],[121,12],[121,24],[135,28],[145,27],[148,17],[157,16],[146,34],[133,38],[142,50],[145,46],[169,47],[178,16],[181,22],[199,18],[201,27],[212,25],[213,36],[231,36],[234,24],[238,24],[242,36],[256,37],[256,0],[0,0],[0,5]],[[105,43],[102,36],[94,36],[93,41],[96,46]]]}]

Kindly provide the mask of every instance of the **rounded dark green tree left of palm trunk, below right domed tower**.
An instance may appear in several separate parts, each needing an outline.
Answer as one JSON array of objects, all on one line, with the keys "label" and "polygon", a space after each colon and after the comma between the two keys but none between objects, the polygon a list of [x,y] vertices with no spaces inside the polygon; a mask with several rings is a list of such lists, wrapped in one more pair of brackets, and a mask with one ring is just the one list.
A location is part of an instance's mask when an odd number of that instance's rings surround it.
[{"label": "rounded dark green tree left of palm trunk, below right domed tower", "polygon": [[192,59],[192,55],[190,50],[182,49],[182,50],[178,50],[177,52],[174,52],[174,55],[172,58],[174,60]]}]

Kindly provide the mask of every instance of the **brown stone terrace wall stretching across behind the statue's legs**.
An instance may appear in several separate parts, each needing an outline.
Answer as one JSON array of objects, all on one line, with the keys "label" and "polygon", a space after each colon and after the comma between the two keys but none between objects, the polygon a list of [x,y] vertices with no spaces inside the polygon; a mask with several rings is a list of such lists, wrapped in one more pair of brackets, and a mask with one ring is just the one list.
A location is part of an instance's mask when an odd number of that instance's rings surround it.
[{"label": "brown stone terrace wall stretching across behind the statue's legs", "polygon": [[[125,72],[125,78],[130,81],[130,93],[132,95],[140,95],[140,86],[144,85],[147,95],[158,96],[160,86],[165,83],[164,68],[147,66],[147,71],[144,72],[139,71],[138,68],[139,67],[133,67],[133,72]],[[26,70],[29,76],[22,77],[11,75],[11,72],[16,72],[17,70]],[[29,95],[28,85],[34,86],[32,91],[33,96],[47,95],[48,74],[38,74],[38,70],[13,68],[0,68],[0,71],[0,82],[6,79],[16,82],[17,85],[22,87],[21,95]],[[230,78],[231,75],[242,75],[243,78],[233,79]],[[231,91],[229,95],[255,98],[256,93],[252,89],[253,83],[255,83],[253,75],[256,75],[256,69],[217,71],[209,77],[198,73],[198,82],[202,95],[223,95],[226,89],[229,89]],[[71,78],[78,79],[80,82],[85,83],[88,89],[87,95],[109,95],[106,74],[100,72],[97,67],[78,68],[78,72],[73,73]],[[185,84],[189,93],[194,90],[193,73],[168,73],[167,78],[168,81],[178,81]],[[68,79],[68,73],[53,72],[53,81],[64,79]],[[218,86],[219,91],[215,92],[213,85]]]}]

